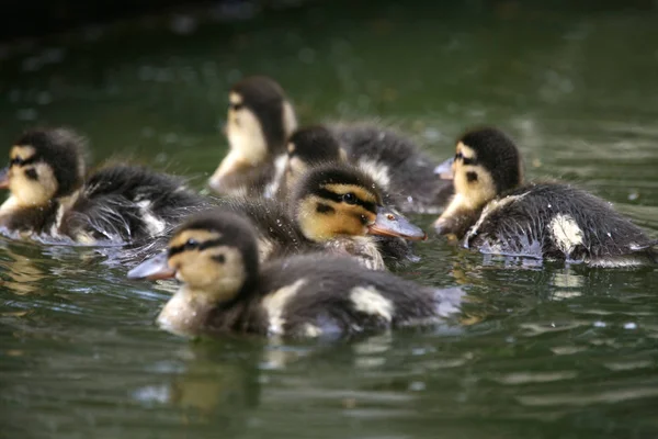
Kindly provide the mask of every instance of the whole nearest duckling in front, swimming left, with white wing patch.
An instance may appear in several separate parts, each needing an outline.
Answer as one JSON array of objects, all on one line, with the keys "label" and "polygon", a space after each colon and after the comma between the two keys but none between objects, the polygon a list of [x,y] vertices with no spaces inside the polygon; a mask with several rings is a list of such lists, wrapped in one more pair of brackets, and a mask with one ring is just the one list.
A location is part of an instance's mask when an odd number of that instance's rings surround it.
[{"label": "whole nearest duckling in front, swimming left, with white wing patch", "polygon": [[177,278],[181,289],[157,317],[183,336],[251,333],[338,338],[435,325],[460,312],[460,289],[436,290],[347,258],[308,254],[259,263],[252,226],[226,211],[195,215],[129,279]]}]

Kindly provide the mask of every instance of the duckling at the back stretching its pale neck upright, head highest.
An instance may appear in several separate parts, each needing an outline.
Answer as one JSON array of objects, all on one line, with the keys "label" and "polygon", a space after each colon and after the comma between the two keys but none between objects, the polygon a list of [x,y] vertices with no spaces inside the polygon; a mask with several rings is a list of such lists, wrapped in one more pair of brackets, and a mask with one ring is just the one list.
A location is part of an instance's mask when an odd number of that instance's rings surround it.
[{"label": "duckling at the back stretching its pale neck upright, head highest", "polygon": [[260,194],[281,178],[285,139],[297,126],[295,112],[281,86],[262,76],[234,85],[228,99],[229,151],[208,185],[223,195]]}]

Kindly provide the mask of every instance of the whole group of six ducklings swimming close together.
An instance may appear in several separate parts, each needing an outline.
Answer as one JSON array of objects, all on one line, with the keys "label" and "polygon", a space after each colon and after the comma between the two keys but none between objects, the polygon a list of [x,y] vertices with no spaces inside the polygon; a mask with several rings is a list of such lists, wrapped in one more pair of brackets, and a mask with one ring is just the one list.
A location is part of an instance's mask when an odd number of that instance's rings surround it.
[{"label": "whole group of six ducklings swimming close together", "polygon": [[[83,137],[34,128],[10,149],[0,227],[11,237],[144,245],[155,256],[131,279],[175,278],[158,324],[174,334],[227,331],[344,337],[433,325],[463,291],[388,272],[415,260],[427,235],[402,213],[433,213],[435,233],[504,256],[629,267],[658,261],[658,241],[610,203],[571,184],[523,181],[513,140],[468,131],[435,162],[379,126],[297,127],[266,77],[229,93],[229,151],[208,180],[220,196],[145,167],[88,171]],[[166,248],[162,248],[166,247]]]}]

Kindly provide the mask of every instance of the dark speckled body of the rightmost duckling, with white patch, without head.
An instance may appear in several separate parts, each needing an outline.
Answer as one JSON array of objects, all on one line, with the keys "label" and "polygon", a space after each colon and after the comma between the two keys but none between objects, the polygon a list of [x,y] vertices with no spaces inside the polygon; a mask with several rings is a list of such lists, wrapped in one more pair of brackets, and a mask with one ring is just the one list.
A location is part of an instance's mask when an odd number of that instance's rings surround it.
[{"label": "dark speckled body of the rightmost duckling, with white patch, without head", "polygon": [[537,183],[489,203],[464,244],[485,252],[610,267],[655,262],[651,247],[658,241],[583,190]]}]

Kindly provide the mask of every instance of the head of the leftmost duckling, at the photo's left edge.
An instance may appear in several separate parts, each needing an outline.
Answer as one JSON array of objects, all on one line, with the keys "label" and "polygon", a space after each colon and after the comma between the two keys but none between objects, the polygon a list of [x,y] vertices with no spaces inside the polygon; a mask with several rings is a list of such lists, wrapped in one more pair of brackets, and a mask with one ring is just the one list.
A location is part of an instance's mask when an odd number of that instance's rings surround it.
[{"label": "head of the leftmost duckling, at the photo's left edge", "polygon": [[11,204],[18,207],[42,206],[70,195],[82,184],[84,148],[84,139],[70,130],[27,131],[10,149],[0,188],[9,189]]}]

